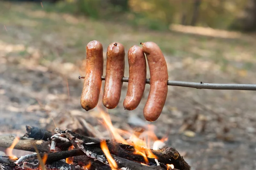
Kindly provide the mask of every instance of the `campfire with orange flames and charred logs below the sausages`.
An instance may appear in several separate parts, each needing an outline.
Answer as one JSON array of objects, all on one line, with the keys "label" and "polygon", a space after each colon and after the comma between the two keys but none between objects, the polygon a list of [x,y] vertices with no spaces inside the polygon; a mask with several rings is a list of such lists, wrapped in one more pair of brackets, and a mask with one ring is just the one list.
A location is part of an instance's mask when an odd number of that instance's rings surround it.
[{"label": "campfire with orange flames and charred logs below the sausages", "polygon": [[[0,156],[0,169],[190,170],[177,150],[164,147],[167,138],[157,138],[153,127],[121,130],[113,126],[106,112],[101,110],[100,114],[110,139],[58,128],[51,133],[29,126],[23,136],[1,136],[0,147],[7,148],[8,156]],[[13,148],[35,153],[17,157]]]}]

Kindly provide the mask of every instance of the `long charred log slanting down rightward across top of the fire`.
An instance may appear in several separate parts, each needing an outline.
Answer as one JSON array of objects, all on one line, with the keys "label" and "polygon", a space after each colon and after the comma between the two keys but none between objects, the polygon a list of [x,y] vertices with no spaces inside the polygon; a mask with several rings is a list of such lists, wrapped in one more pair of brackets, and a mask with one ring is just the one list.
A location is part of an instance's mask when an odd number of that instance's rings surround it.
[{"label": "long charred log slanting down rightward across top of the fire", "polygon": [[[96,158],[97,156],[104,155],[100,147],[100,142],[102,141],[100,139],[90,139],[89,137],[79,135],[77,133],[71,132],[70,130],[56,129],[55,131],[65,135],[67,138],[70,138],[70,140],[72,139],[77,141],[78,147],[89,157]],[[112,142],[110,140],[106,140],[106,143],[112,155],[147,164],[143,156],[134,154],[134,146]],[[166,147],[161,150],[148,150],[141,148],[141,151],[145,151],[146,153],[149,151],[153,153],[155,156],[157,156],[157,161],[162,164],[173,164],[177,169],[190,170],[189,164],[186,163],[183,157],[180,156],[180,154],[174,148]],[[157,165],[155,158],[147,159],[149,165]]]}]

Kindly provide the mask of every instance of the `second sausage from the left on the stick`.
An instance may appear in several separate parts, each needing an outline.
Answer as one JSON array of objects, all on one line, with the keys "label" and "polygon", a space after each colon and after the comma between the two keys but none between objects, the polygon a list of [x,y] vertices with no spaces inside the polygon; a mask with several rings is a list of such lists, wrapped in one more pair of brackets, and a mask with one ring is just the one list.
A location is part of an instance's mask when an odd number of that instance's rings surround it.
[{"label": "second sausage from the left on the stick", "polygon": [[108,109],[117,106],[121,97],[122,78],[125,73],[125,48],[111,43],[107,49],[107,67],[102,103]]}]

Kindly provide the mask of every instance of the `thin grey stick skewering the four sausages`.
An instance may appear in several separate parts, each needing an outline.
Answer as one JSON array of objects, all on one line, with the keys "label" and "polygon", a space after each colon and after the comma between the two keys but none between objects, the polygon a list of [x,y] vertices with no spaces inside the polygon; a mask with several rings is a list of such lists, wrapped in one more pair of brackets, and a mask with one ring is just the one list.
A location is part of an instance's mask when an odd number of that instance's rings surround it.
[{"label": "thin grey stick skewering the four sausages", "polygon": [[[79,79],[84,78],[79,76]],[[102,75],[102,80],[105,81],[105,76]],[[128,82],[128,77],[122,78],[123,82]],[[150,79],[146,79],[146,84],[150,84]],[[218,89],[218,90],[256,90],[256,84],[213,84],[213,83],[196,83],[187,81],[167,81],[168,86],[191,87],[196,89]]]}]

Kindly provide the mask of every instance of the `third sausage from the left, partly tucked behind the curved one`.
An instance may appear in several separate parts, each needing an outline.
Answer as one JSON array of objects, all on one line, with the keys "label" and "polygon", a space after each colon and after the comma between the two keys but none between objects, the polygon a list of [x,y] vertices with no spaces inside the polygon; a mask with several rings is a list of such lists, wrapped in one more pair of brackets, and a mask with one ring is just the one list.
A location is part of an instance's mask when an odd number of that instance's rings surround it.
[{"label": "third sausage from the left, partly tucked behind the curved one", "polygon": [[134,110],[140,104],[146,85],[146,59],[142,48],[132,46],[128,51],[129,82],[123,106]]}]

